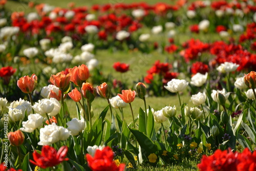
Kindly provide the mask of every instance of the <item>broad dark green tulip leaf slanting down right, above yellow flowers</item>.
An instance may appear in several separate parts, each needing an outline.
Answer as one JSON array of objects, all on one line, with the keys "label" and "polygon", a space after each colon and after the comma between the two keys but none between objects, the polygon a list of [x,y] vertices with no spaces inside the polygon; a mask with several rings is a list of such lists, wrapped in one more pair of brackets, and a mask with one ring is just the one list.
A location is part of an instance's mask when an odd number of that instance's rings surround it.
[{"label": "broad dark green tulip leaf slanting down right, above yellow flowers", "polygon": [[130,131],[133,133],[141,147],[142,156],[147,159],[147,157],[152,153],[155,153],[157,155],[157,147],[150,138],[148,138],[144,133],[140,132],[139,130],[130,129]]}]

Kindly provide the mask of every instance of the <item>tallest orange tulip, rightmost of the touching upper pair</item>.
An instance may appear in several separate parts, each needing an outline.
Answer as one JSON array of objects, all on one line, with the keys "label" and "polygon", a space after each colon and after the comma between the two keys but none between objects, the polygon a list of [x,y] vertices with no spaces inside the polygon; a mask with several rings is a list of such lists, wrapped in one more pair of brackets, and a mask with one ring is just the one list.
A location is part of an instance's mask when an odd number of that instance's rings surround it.
[{"label": "tallest orange tulip, rightmost of the touching upper pair", "polygon": [[70,73],[71,73],[70,81],[74,82],[78,87],[81,87],[82,83],[86,82],[86,80],[90,76],[89,69],[84,64],[82,64],[81,66],[72,68]]}]

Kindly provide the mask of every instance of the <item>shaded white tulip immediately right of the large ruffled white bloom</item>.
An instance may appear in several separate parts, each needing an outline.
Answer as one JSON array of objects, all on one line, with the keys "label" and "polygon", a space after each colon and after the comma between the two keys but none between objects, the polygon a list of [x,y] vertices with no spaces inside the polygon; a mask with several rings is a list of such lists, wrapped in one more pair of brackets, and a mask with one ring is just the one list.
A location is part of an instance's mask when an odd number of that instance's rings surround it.
[{"label": "shaded white tulip immediately right of the large ruffled white bloom", "polygon": [[70,131],[70,134],[73,136],[78,135],[81,133],[86,126],[84,123],[84,119],[78,120],[77,118],[73,118],[71,121],[67,122],[67,129]]}]

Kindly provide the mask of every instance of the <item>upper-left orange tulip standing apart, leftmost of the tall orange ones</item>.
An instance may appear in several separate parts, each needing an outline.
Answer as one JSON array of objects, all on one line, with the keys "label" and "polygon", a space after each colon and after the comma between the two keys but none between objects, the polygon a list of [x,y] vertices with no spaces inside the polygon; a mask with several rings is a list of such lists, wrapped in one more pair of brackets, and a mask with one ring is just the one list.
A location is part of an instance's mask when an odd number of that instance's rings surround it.
[{"label": "upper-left orange tulip standing apart, leftmost of the tall orange ones", "polygon": [[37,76],[35,74],[32,74],[31,77],[24,76],[19,78],[17,81],[17,86],[20,90],[22,90],[23,93],[31,93],[35,90],[35,87],[37,85]]}]

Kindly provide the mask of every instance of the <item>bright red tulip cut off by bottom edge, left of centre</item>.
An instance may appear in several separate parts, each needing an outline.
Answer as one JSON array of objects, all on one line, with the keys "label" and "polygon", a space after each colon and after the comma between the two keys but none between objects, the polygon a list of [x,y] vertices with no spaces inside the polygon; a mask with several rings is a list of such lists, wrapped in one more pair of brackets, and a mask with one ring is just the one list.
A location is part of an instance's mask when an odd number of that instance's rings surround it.
[{"label": "bright red tulip cut off by bottom edge, left of centre", "polygon": [[124,163],[117,166],[116,163],[113,161],[114,153],[109,146],[104,147],[102,151],[100,149],[97,149],[94,157],[92,157],[90,154],[87,154],[86,158],[89,167],[93,171],[121,171],[125,168]]}]

